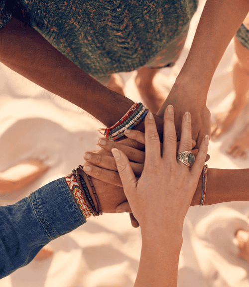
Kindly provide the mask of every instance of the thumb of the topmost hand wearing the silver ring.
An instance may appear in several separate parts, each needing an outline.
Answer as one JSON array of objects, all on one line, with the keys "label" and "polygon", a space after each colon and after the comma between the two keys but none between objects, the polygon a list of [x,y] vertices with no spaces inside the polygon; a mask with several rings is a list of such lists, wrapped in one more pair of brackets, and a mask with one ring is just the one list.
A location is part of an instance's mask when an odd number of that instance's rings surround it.
[{"label": "thumb of the topmost hand wearing the silver ring", "polygon": [[129,191],[134,190],[136,188],[137,180],[129,164],[129,160],[127,156],[124,154],[124,152],[117,148],[113,148],[112,153],[116,160],[119,175],[124,188],[124,194],[128,198]]}]

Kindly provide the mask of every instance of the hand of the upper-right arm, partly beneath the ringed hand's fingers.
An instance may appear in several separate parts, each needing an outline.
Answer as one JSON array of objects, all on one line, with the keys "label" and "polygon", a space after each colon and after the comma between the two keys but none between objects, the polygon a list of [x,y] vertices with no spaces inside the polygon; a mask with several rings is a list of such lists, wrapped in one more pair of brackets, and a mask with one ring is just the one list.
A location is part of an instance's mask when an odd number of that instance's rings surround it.
[{"label": "hand of the upper-right arm, partly beneath the ringed hand's fingers", "polygon": [[194,87],[191,90],[192,92],[189,92],[175,84],[157,114],[163,117],[164,109],[169,104],[174,106],[176,135],[177,140],[180,140],[182,117],[186,111],[190,112],[192,118],[192,139],[196,141],[195,148],[199,148],[205,135],[210,136],[211,134],[211,121],[206,101],[202,100],[206,99],[206,96],[200,95],[199,98],[194,98],[193,95],[196,95],[196,89]]}]

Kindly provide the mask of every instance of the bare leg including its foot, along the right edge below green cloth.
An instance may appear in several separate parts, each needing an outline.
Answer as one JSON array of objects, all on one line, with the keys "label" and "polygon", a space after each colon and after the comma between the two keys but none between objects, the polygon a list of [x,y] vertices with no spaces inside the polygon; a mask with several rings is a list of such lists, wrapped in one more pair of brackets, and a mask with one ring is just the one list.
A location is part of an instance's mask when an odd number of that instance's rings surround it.
[{"label": "bare leg including its foot, along the right edge below green cloth", "polygon": [[215,123],[211,127],[213,140],[220,138],[231,129],[249,101],[249,49],[243,46],[237,37],[235,37],[235,51],[238,57],[233,70],[235,100],[228,112],[216,115]]}]

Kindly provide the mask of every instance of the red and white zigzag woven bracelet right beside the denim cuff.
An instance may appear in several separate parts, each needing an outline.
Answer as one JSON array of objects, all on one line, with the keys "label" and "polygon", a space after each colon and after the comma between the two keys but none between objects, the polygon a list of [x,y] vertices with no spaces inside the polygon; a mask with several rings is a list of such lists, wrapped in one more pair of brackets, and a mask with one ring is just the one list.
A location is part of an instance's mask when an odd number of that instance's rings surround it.
[{"label": "red and white zigzag woven bracelet right beside the denim cuff", "polygon": [[65,180],[83,216],[85,217],[85,219],[89,218],[92,215],[92,212],[90,211],[86,202],[84,201],[80,187],[73,173],[70,173],[67,176],[65,176]]}]

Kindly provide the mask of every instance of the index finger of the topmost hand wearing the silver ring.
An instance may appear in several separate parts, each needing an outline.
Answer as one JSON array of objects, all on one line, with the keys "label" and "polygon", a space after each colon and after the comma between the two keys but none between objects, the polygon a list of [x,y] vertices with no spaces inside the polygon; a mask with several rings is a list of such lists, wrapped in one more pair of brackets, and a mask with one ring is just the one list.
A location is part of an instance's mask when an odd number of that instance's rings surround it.
[{"label": "index finger of the topmost hand wearing the silver ring", "polygon": [[[151,164],[161,158],[160,138],[152,113],[148,113],[144,121],[145,126],[145,160]],[[145,162],[146,164],[146,162]]]}]

